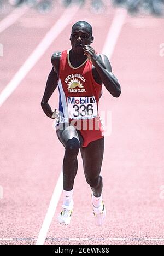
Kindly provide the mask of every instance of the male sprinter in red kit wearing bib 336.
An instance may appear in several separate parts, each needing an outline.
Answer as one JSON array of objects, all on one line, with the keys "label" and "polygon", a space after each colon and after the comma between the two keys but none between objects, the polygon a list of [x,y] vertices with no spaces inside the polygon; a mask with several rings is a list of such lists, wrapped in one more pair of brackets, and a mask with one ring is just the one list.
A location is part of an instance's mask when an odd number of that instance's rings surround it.
[{"label": "male sprinter in red kit wearing bib 336", "polygon": [[[106,210],[102,200],[102,177],[100,176],[104,133],[98,114],[98,101],[102,84],[113,95],[121,94],[120,84],[112,73],[108,58],[95,53],[92,27],[79,21],[72,27],[71,50],[52,55],[53,68],[49,74],[42,108],[45,114],[57,118],[56,132],[65,147],[63,159],[63,205],[58,221],[69,224],[73,210],[73,185],[78,170],[79,149],[83,158],[86,182],[92,190],[92,206],[96,224],[102,225]],[[58,86],[60,94],[59,114],[52,111],[49,98]]]}]

